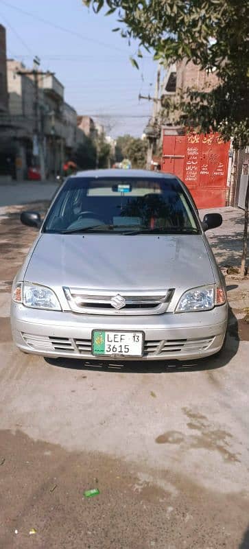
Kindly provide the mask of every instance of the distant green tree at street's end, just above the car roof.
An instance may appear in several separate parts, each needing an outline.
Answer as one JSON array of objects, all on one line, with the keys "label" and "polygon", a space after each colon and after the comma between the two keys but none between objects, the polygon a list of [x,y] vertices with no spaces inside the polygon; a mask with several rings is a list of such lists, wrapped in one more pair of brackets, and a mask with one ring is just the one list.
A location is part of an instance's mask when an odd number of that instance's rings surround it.
[{"label": "distant green tree at street's end, just above the car roof", "polygon": [[146,166],[147,141],[137,139],[131,135],[122,135],[117,138],[116,161],[129,159],[133,168]]}]

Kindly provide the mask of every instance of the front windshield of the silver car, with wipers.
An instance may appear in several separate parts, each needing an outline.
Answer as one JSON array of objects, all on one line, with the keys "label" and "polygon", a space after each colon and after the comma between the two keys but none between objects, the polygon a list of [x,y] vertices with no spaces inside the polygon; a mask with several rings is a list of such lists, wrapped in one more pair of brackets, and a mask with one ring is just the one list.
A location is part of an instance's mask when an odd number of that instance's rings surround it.
[{"label": "front windshield of the silver car, with wipers", "polygon": [[199,233],[176,178],[71,177],[52,205],[45,233]]}]

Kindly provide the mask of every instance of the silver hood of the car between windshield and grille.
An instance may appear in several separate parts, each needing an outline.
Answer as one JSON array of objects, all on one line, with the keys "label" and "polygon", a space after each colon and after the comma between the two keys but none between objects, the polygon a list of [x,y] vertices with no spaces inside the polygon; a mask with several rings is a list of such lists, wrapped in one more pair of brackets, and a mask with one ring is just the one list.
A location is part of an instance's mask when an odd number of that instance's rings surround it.
[{"label": "silver hood of the car between windshield and grille", "polygon": [[50,288],[185,290],[214,276],[202,235],[43,233],[25,280]]}]

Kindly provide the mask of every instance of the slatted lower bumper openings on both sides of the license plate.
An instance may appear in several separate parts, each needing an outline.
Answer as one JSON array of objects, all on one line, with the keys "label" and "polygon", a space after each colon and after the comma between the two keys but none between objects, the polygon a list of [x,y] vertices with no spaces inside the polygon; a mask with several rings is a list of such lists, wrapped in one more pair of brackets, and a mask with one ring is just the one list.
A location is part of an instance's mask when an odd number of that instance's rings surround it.
[{"label": "slatted lower bumper openings on both sides of the license plate", "polygon": [[[22,334],[25,343],[36,351],[45,351],[56,355],[80,355],[82,358],[93,358],[91,339],[55,338],[53,336],[34,336]],[[144,357],[162,358],[174,353],[181,355],[198,354],[212,344],[214,338],[145,340]],[[96,358],[96,357],[94,357]]]}]

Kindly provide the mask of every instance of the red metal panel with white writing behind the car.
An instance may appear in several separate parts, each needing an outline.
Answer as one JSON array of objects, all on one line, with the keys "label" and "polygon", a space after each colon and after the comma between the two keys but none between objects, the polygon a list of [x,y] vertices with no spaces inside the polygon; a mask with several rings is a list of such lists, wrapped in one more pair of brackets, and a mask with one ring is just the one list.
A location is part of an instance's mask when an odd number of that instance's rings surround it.
[{"label": "red metal panel with white writing behind the car", "polygon": [[165,135],[162,170],[187,185],[198,208],[225,206],[229,147],[218,133]]}]

